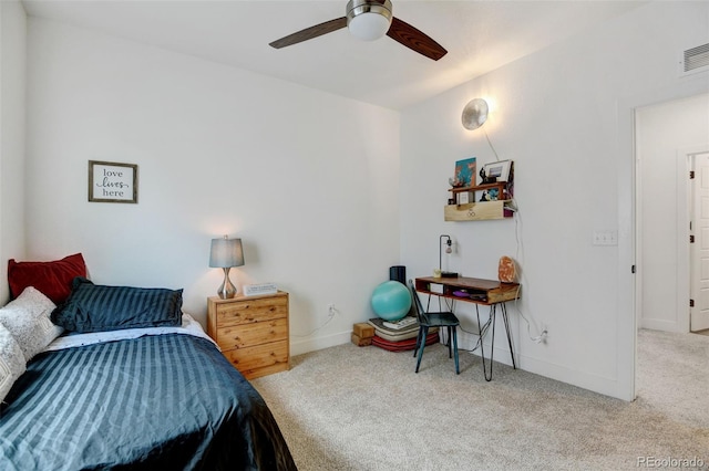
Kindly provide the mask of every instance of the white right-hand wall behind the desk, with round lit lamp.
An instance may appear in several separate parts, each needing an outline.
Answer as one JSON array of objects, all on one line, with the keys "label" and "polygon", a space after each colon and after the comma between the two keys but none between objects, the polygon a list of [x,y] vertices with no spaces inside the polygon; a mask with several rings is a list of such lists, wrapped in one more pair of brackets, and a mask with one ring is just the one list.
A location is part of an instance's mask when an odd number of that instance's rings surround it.
[{"label": "white right-hand wall behind the desk, with round lit lamp", "polygon": [[[634,397],[633,111],[709,90],[707,74],[677,73],[679,52],[707,42],[708,20],[706,2],[650,3],[402,113],[401,262],[431,273],[442,233],[458,241],[450,263],[464,275],[494,279],[501,255],[516,258],[517,307],[532,321],[530,335],[511,306],[522,368]],[[492,109],[484,128],[466,132],[460,116],[474,97]],[[495,158],[483,132],[515,160],[520,212],[444,222],[453,163]],[[617,232],[618,245],[593,245],[594,231]],[[473,310],[461,316],[474,331]],[[542,324],[548,338],[536,344]],[[463,337],[472,347],[475,337]],[[495,347],[510,363],[504,335]]]}]

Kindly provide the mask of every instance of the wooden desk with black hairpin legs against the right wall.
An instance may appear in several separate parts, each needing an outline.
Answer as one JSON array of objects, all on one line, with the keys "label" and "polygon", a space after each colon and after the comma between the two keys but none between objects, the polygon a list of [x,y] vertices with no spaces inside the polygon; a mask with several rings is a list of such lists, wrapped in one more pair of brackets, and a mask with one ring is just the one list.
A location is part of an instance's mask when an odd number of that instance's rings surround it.
[{"label": "wooden desk with black hairpin legs against the right wall", "polygon": [[[507,308],[505,302],[520,299],[520,283],[501,283],[495,280],[483,280],[479,278],[418,278],[414,287],[419,293],[429,295],[429,305],[431,296],[444,297],[453,301],[463,301],[465,303],[475,304],[475,315],[477,316],[477,334],[480,335],[480,354],[483,359],[483,374],[485,380],[492,379],[492,365],[495,353],[495,317],[497,306],[502,313],[502,320],[505,324],[505,333],[507,334],[507,344],[510,345],[510,355],[512,356],[512,367],[517,368],[514,358],[514,348],[512,347],[512,333],[510,332],[510,320],[507,317]],[[483,325],[480,323],[480,305],[490,306],[490,318]],[[429,306],[427,305],[427,311]],[[452,310],[451,310],[452,311]],[[483,346],[483,337],[487,328],[492,324],[492,347],[490,352],[490,368],[485,365],[485,350]]]}]

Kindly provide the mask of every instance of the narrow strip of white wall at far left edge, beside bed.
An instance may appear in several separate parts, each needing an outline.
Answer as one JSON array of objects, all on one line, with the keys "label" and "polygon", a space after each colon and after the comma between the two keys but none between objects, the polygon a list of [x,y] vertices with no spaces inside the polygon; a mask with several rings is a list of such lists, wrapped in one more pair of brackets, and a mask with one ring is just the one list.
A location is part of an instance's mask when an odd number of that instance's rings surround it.
[{"label": "narrow strip of white wall at far left edge, beside bed", "polygon": [[[24,257],[24,78],[27,14],[0,2],[0,270]],[[9,299],[0,283],[0,305]]]}]

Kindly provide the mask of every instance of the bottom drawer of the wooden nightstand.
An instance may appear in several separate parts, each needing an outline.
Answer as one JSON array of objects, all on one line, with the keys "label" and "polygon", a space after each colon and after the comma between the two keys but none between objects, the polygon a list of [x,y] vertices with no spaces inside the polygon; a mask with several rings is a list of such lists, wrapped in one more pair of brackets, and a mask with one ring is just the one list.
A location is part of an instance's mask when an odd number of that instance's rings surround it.
[{"label": "bottom drawer of the wooden nightstand", "polygon": [[290,367],[288,341],[225,350],[223,354],[246,379],[285,371]]}]

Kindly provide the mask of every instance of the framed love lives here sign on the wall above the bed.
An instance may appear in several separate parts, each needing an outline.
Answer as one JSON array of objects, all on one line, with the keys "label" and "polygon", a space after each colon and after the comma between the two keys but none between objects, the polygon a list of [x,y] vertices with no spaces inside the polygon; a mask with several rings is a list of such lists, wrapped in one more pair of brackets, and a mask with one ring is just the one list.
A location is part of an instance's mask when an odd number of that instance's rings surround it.
[{"label": "framed love lives here sign on the wall above the bed", "polygon": [[137,202],[137,165],[89,160],[89,201]]}]

